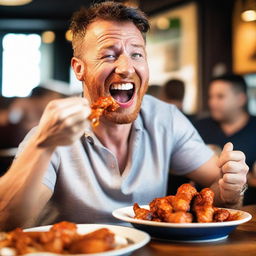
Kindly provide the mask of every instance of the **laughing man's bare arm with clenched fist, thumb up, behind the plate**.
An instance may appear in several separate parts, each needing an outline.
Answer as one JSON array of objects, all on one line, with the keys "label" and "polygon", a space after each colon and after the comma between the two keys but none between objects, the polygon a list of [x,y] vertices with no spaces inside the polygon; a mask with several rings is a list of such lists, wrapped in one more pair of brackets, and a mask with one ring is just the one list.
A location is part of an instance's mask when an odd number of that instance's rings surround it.
[{"label": "laughing man's bare arm with clenched fist, thumb up, behind the plate", "polygon": [[241,191],[248,169],[245,155],[233,151],[232,143],[227,143],[219,157],[213,156],[187,177],[204,187],[211,187],[216,205],[234,208],[242,203]]}]

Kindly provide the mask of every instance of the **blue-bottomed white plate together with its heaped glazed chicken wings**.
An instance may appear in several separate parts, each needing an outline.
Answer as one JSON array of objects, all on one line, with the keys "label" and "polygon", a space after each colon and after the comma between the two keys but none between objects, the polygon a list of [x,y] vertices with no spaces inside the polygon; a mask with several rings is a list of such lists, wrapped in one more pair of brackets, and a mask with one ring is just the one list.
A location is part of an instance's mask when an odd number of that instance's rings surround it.
[{"label": "blue-bottomed white plate together with its heaped glazed chicken wings", "polygon": [[214,192],[181,185],[176,195],[153,199],[148,205],[119,208],[113,216],[149,233],[152,238],[179,242],[222,240],[252,216],[244,211],[217,208]]}]

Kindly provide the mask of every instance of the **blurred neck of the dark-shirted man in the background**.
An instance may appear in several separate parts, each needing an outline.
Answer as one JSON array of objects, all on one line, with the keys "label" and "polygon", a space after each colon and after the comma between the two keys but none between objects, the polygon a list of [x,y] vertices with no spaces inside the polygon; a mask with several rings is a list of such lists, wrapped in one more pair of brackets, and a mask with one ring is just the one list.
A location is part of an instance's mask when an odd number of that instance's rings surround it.
[{"label": "blurred neck of the dark-shirted man in the background", "polygon": [[225,122],[221,122],[220,126],[223,132],[227,136],[231,136],[236,132],[240,131],[242,128],[244,128],[248,120],[249,120],[249,114],[245,111],[242,111],[234,115],[229,120]]}]

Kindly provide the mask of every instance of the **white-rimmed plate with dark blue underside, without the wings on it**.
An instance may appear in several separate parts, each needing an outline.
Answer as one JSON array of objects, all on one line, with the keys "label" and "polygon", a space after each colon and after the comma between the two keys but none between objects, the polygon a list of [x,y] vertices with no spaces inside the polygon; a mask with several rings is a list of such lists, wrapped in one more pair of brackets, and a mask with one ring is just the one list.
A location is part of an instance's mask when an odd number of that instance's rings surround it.
[{"label": "white-rimmed plate with dark blue underside, without the wings on it", "polygon": [[[148,205],[141,206],[149,209]],[[167,239],[179,242],[213,242],[222,240],[240,224],[249,221],[251,214],[228,209],[230,212],[239,212],[239,220],[211,223],[166,223],[134,219],[133,206],[119,208],[113,211],[113,216],[119,220],[131,223],[135,228],[149,233],[154,238]]]}]

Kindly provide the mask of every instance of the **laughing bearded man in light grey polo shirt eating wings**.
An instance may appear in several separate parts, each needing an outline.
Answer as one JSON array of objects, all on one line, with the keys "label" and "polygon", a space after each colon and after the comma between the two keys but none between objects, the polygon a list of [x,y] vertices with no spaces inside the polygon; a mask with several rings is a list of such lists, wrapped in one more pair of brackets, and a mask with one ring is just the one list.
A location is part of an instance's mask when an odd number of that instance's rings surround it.
[{"label": "laughing bearded man in light grey polo shirt eating wings", "polygon": [[[219,204],[239,203],[243,153],[227,144],[217,162],[175,107],[150,96],[142,103],[148,28],[142,12],[114,2],[73,17],[71,64],[84,98],[51,102],[21,145],[0,179],[2,229],[35,225],[48,202],[54,222],[113,222],[112,210],[165,194],[170,161],[176,172],[212,186]],[[90,129],[90,104],[110,95],[119,109]]]}]

